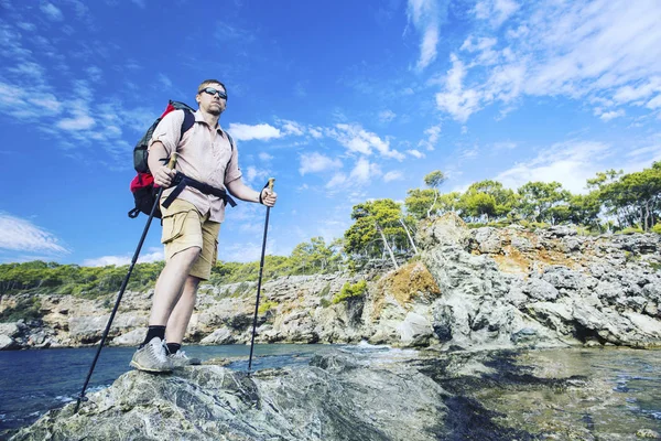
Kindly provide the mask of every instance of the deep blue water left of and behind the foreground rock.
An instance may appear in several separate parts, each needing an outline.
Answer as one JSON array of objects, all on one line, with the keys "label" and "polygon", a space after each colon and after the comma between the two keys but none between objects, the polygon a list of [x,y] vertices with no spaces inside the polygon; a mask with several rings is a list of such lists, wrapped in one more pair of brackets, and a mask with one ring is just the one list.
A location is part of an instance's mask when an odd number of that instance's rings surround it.
[{"label": "deep blue water left of and behind the foreground rock", "polygon": [[[332,351],[332,345],[256,345],[252,370],[306,365],[314,354]],[[209,359],[236,358],[227,367],[248,369],[250,346],[185,346],[186,355]],[[0,352],[0,438],[8,429],[30,424],[47,410],[76,400],[97,347]],[[108,387],[130,370],[136,348],[105,347],[97,362],[87,392]]]}]

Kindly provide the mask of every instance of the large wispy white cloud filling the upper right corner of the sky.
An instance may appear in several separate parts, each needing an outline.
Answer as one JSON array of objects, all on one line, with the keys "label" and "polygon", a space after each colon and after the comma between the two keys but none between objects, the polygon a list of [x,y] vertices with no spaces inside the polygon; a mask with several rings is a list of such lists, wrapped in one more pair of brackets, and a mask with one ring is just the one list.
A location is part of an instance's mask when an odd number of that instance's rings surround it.
[{"label": "large wispy white cloud filling the upper right corner of the sky", "polygon": [[451,54],[436,104],[458,121],[495,101],[507,112],[523,96],[600,100],[606,119],[619,111],[613,105],[643,106],[661,89],[659,1],[544,1],[519,10],[511,0],[480,0],[475,13],[495,26],[509,20],[510,30],[483,29],[460,57]]}]

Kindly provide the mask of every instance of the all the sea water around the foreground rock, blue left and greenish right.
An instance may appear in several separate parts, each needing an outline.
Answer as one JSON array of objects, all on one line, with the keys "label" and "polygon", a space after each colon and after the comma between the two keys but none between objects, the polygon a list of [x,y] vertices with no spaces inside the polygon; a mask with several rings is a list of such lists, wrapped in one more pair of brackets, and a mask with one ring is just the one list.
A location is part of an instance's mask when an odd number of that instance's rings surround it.
[{"label": "all the sea water around the foreground rock, blue left and greenish right", "polygon": [[[376,368],[416,358],[414,351],[387,346],[258,345],[252,368],[307,365],[313,355],[338,348]],[[238,370],[247,370],[249,349],[246,345],[185,347],[189,356],[232,359],[227,367]],[[111,385],[129,370],[133,351],[104,348],[88,392]],[[0,439],[48,409],[74,401],[95,353],[96,348],[0,352]],[[436,355],[444,356],[448,355]],[[457,377],[447,370],[435,377],[452,394],[452,402],[445,402],[448,418],[466,419],[466,433],[478,433],[476,416],[486,416],[481,429],[491,433],[490,440],[513,439],[508,433],[535,440],[636,440],[640,429],[661,432],[659,349],[505,352],[486,359],[473,374],[463,369]],[[500,430],[500,435],[490,428]]]}]

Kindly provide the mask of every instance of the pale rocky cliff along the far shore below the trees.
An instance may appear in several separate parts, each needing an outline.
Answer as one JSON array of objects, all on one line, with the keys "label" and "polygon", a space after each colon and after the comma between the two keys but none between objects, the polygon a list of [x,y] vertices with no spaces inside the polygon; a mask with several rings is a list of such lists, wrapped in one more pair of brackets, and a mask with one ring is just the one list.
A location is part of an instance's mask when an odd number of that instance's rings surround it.
[{"label": "pale rocky cliff along the far shore below the trees", "polygon": [[[570,226],[422,225],[419,259],[390,271],[294,276],[262,287],[257,341],[444,347],[661,344],[661,236]],[[345,283],[367,281],[337,301]],[[256,283],[202,286],[187,342],[249,342]],[[143,338],[152,292],[127,292],[110,345]],[[20,300],[3,297],[0,310]],[[336,302],[334,302],[334,299]],[[0,348],[95,344],[115,299],[42,295],[42,321],[0,324]]]}]

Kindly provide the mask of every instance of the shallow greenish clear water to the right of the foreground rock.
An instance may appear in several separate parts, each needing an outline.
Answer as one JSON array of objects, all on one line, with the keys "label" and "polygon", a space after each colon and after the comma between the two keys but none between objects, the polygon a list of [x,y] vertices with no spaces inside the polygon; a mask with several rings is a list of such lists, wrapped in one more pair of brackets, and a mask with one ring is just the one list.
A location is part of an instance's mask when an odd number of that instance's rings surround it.
[{"label": "shallow greenish clear water to the right of the foreground rock", "polygon": [[[520,354],[516,364],[539,379],[477,390],[509,423],[554,439],[636,440],[661,432],[661,351],[552,349]],[[560,379],[555,385],[544,379]]]}]

